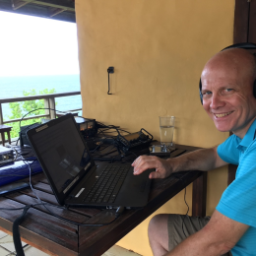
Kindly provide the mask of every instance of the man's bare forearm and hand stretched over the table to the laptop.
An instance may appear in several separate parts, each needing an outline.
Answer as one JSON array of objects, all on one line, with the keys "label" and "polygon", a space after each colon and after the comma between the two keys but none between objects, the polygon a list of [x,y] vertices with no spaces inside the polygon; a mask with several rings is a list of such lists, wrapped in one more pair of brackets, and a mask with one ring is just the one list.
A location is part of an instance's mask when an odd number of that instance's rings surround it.
[{"label": "man's bare forearm and hand stretched over the table to the laptop", "polygon": [[168,160],[161,160],[154,156],[141,156],[132,163],[132,166],[135,175],[141,174],[146,169],[156,168],[156,172],[152,172],[150,178],[164,178],[181,170],[210,170],[225,164],[227,162],[219,157],[217,147],[214,147]]}]

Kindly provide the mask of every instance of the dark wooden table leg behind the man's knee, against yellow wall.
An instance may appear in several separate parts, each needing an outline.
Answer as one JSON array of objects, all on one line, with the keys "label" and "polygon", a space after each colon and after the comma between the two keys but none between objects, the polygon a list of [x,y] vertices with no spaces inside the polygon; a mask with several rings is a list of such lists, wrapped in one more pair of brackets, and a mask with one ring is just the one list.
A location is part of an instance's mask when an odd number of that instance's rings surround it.
[{"label": "dark wooden table leg behind the man's knee, against yellow wall", "polygon": [[207,171],[193,182],[192,216],[206,216]]}]

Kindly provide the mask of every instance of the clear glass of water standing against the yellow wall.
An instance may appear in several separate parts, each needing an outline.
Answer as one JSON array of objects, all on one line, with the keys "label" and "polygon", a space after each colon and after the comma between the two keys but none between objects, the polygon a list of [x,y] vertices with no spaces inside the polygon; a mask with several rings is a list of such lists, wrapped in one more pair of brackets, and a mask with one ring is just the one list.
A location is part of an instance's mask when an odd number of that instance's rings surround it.
[{"label": "clear glass of water standing against the yellow wall", "polygon": [[174,116],[160,116],[160,146],[163,152],[174,148],[174,123]]}]

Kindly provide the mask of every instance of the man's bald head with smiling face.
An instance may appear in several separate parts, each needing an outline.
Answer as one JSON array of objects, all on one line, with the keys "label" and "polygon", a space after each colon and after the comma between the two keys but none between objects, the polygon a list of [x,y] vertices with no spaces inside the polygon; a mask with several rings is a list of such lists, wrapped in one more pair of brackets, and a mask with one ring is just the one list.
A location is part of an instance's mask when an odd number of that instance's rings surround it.
[{"label": "man's bald head with smiling face", "polygon": [[245,49],[226,49],[206,64],[201,81],[203,106],[216,128],[243,138],[256,115],[254,56]]}]

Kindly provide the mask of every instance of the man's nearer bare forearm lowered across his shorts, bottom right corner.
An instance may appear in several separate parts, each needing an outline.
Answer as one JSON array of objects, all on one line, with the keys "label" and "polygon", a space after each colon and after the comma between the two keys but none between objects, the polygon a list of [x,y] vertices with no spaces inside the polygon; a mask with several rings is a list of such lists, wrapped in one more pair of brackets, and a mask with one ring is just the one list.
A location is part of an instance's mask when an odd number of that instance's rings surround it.
[{"label": "man's nearer bare forearm lowered across his shorts, bottom right corner", "polygon": [[218,256],[228,252],[248,229],[217,210],[209,223],[164,256]]}]

